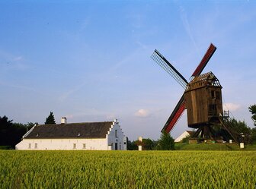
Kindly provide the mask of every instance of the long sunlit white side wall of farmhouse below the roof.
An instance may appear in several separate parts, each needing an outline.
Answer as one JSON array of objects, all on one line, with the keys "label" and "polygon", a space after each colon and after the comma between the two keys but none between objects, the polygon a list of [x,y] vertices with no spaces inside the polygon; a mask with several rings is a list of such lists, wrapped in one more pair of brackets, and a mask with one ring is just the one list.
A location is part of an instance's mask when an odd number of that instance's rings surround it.
[{"label": "long sunlit white side wall of farmhouse below the roof", "polygon": [[107,139],[23,139],[16,150],[107,150]]}]

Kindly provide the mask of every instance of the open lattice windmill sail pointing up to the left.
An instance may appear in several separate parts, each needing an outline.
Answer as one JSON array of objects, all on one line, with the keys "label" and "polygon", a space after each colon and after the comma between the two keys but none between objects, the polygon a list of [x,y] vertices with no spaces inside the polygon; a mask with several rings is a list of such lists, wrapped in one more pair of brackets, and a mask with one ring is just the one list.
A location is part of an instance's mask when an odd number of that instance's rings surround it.
[{"label": "open lattice windmill sail pointing up to the left", "polygon": [[170,74],[174,80],[177,80],[181,87],[186,89],[187,80],[171,65],[170,62],[168,62],[168,60],[163,55],[160,54],[160,52],[155,49],[155,52],[151,55],[151,58],[165,71],[167,71],[167,73]]}]

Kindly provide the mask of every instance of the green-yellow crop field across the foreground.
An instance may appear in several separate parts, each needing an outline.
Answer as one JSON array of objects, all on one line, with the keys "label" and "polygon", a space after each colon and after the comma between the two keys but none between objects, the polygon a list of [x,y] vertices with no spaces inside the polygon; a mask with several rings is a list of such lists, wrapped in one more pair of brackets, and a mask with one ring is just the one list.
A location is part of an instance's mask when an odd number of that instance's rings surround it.
[{"label": "green-yellow crop field across the foreground", "polygon": [[0,150],[0,188],[255,188],[254,151]]}]

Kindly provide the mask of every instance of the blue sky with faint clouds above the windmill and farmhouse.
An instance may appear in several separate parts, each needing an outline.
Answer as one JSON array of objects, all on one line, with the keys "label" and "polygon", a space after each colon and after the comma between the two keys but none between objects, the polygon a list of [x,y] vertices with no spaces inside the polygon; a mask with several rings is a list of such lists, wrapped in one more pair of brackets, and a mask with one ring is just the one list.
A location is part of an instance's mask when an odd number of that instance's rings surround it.
[{"label": "blue sky with faint clouds above the windmill and farmhouse", "polygon": [[[111,121],[157,139],[184,92],[150,58],[158,49],[187,79],[213,43],[203,73],[222,84],[224,109],[252,126],[256,2],[0,2],[0,116],[14,122]],[[171,135],[187,130],[186,113]]]}]

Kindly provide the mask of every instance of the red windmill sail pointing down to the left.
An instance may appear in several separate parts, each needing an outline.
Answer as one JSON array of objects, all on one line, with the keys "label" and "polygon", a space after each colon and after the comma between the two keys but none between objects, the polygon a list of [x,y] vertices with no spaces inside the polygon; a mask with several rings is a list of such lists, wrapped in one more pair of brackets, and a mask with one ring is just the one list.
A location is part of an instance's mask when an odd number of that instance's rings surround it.
[{"label": "red windmill sail pointing down to the left", "polygon": [[184,110],[185,100],[183,95],[181,96],[181,99],[175,107],[174,111],[171,113],[171,116],[168,118],[168,121],[165,123],[165,127],[162,128],[162,132],[166,131],[167,133],[169,133],[174,128],[175,124],[177,124],[178,120],[181,118]]}]

